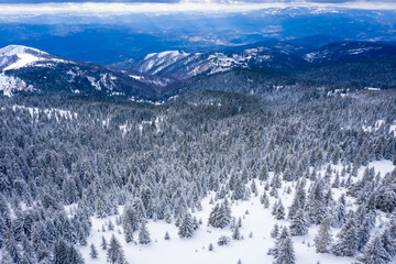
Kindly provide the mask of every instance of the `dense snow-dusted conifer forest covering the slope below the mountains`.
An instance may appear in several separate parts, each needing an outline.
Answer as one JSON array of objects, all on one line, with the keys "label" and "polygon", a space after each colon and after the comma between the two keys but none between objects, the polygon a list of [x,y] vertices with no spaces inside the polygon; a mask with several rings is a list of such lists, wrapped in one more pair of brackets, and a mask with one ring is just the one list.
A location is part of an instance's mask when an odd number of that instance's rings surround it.
[{"label": "dense snow-dusted conifer forest covering the slope below the mountains", "polygon": [[[90,218],[120,215],[120,206],[123,213],[111,224],[122,227],[127,242],[150,243],[148,219],[193,237],[200,228],[194,212],[209,191],[217,194],[210,224],[232,229],[232,238],[219,239],[219,245],[227,244],[239,238],[240,226],[230,204],[254,195],[258,187],[248,184],[252,178],[263,183],[264,207],[290,222],[274,227],[268,253],[275,263],[295,263],[292,237],[314,224],[320,226],[317,252],[355,255],[361,264],[391,263],[396,172],[367,169],[361,180],[353,179],[371,161],[396,163],[396,139],[389,133],[396,94],[343,92],[285,86],[253,99],[206,91],[157,107],[0,98],[1,263],[84,263],[78,246],[87,245]],[[375,128],[377,120],[384,124]],[[333,182],[331,166],[324,175],[316,173],[329,164],[344,167]],[[290,208],[278,193],[285,182],[295,183]],[[346,196],[334,200],[333,188],[348,189]],[[270,205],[268,197],[278,201]],[[346,198],[354,210],[346,210]],[[70,205],[77,206],[69,210]],[[384,232],[371,235],[378,213],[389,221]],[[332,241],[336,228],[341,231]],[[102,241],[102,248],[109,263],[127,263],[116,238]]]}]

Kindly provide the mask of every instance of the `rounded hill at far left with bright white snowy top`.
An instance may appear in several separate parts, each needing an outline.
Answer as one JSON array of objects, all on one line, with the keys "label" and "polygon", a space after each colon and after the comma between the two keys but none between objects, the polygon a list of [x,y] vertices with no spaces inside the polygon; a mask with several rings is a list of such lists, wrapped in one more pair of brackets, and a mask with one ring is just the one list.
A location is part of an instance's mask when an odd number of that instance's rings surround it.
[{"label": "rounded hill at far left with bright white snowy top", "polygon": [[32,47],[9,45],[0,50],[0,91],[8,97],[37,91],[145,99],[155,95],[146,82],[121,70],[62,58]]}]

